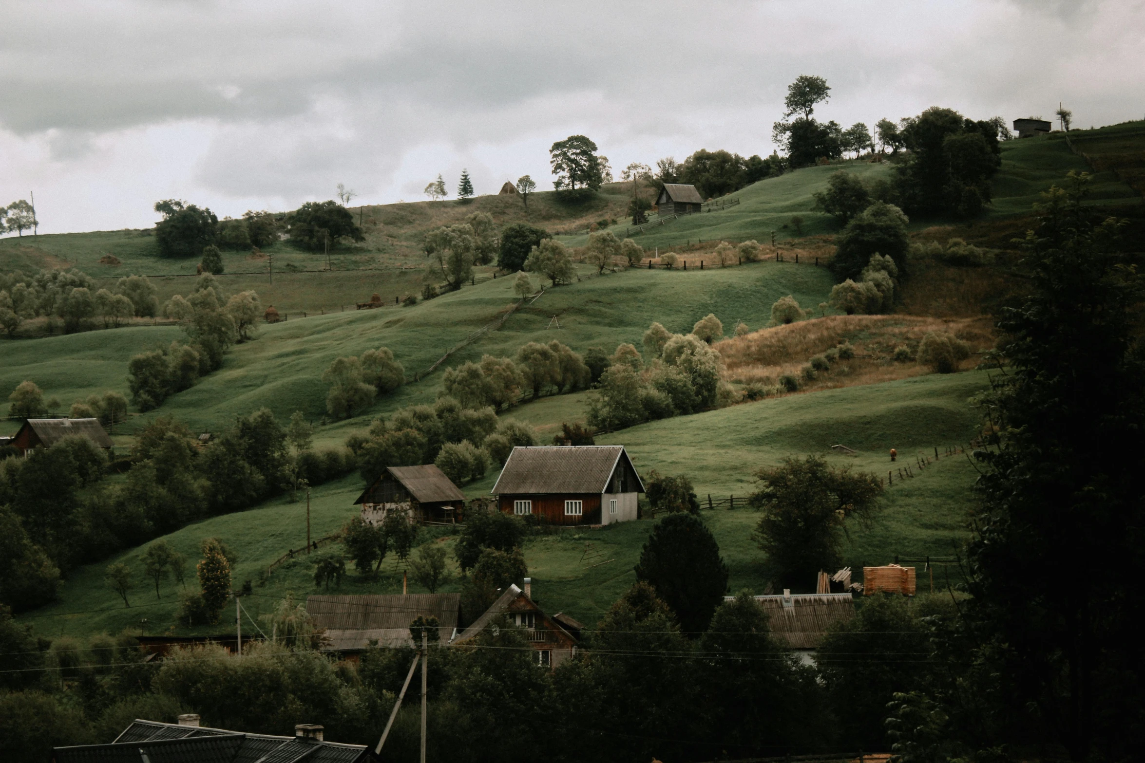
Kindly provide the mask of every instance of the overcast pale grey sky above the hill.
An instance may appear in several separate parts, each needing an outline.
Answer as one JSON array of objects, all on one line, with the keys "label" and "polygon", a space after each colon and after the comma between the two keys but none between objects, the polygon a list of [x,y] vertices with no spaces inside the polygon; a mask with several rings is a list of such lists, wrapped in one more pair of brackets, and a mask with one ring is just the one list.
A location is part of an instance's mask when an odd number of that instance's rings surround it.
[{"label": "overcast pale grey sky above the hill", "polygon": [[773,150],[788,85],[821,120],[941,105],[1089,127],[1145,117],[1145,0],[319,2],[5,0],[0,205],[41,233],[531,175],[587,135],[614,172]]}]

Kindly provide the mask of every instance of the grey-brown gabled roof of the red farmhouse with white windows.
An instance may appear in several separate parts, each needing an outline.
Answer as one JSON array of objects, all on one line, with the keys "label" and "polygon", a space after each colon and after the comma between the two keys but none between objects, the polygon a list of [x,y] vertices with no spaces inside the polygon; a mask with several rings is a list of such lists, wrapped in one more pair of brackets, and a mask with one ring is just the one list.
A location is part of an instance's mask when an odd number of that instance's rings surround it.
[{"label": "grey-brown gabled roof of the red farmhouse with white windows", "polygon": [[[602,493],[621,459],[637,474],[622,445],[514,447],[490,492],[495,495]],[[638,492],[642,493],[640,475],[637,483]]]}]

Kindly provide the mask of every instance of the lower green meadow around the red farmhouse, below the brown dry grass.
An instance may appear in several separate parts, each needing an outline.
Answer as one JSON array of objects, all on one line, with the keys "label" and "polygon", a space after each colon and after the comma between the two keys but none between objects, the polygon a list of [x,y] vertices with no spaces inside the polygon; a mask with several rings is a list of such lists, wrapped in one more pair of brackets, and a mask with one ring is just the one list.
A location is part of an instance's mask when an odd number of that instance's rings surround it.
[{"label": "lower green meadow around the red farmhouse, below the brown dry grass", "polygon": [[[747,496],[751,491],[751,472],[785,455],[826,453],[832,463],[883,474],[890,467],[886,451],[892,446],[898,447],[900,462],[905,463],[911,461],[915,453],[933,454],[934,445],[941,450],[948,443],[965,443],[974,435],[979,421],[968,398],[985,383],[984,374],[970,372],[793,395],[634,427],[601,437],[599,442],[625,445],[641,474],[660,469],[692,476],[702,496],[709,492]],[[548,402],[535,405],[544,406]],[[528,408],[523,406],[521,413],[527,413]],[[830,454],[829,447],[836,443],[858,450],[858,454]],[[854,567],[864,563],[883,564],[893,561],[895,554],[950,555],[953,545],[964,537],[974,477],[965,456],[947,459],[943,455],[914,479],[901,484],[897,480],[889,488],[885,509],[874,525],[867,530],[851,528],[846,564]],[[467,492],[485,494],[492,479],[490,475],[484,482],[471,485]],[[310,503],[314,537],[332,532],[356,512],[353,501],[361,487],[360,478],[350,476],[314,490]],[[749,509],[705,511],[703,516],[732,571],[732,589],[761,590],[766,585],[763,557],[751,540],[758,516]],[[564,611],[584,622],[595,622],[633,582],[632,566],[653,524],[640,520],[603,530],[571,530],[532,538],[526,547],[526,556],[535,580],[534,591],[542,605],[550,612]],[[337,550],[323,548],[309,558],[300,555],[269,577],[263,575],[267,566],[287,549],[305,545],[305,500],[290,503],[276,499],[248,511],[190,525],[167,535],[166,540],[189,559],[195,559],[199,542],[210,537],[222,538],[237,553],[235,581],[253,582],[255,595],[243,605],[254,618],[273,607],[287,591],[300,597],[315,593],[315,559]],[[453,538],[439,531],[427,533],[423,541],[451,546]],[[141,627],[148,633],[192,633],[174,622],[179,594],[175,583],[165,581],[160,587],[161,598],[157,599],[155,589],[149,589],[143,581],[143,548],[76,570],[58,602],[29,613],[22,621],[33,623],[45,636],[118,633],[124,628],[139,633]],[[600,556],[584,561],[586,551]],[[113,562],[124,562],[136,572],[139,588],[131,597],[133,606],[129,609],[103,581],[103,570]],[[597,562],[605,563],[591,566]],[[941,579],[938,582],[941,583]],[[445,587],[445,590],[456,589],[456,582]],[[411,583],[411,590],[421,589]],[[340,591],[400,593],[401,571],[394,562],[387,561],[378,581],[350,574]],[[224,612],[221,625],[198,631],[231,630],[231,612]],[[142,623],[144,618],[145,626]],[[243,628],[253,630],[246,621]]]}]

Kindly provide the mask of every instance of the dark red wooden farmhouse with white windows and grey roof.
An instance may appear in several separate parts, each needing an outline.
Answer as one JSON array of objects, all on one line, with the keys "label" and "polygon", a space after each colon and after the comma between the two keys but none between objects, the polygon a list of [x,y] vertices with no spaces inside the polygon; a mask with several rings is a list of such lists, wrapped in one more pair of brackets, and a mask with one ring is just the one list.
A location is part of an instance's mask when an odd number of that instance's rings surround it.
[{"label": "dark red wooden farmhouse with white windows and grey roof", "polygon": [[645,488],[621,445],[545,445],[514,447],[491,492],[505,514],[610,525],[637,518]]}]

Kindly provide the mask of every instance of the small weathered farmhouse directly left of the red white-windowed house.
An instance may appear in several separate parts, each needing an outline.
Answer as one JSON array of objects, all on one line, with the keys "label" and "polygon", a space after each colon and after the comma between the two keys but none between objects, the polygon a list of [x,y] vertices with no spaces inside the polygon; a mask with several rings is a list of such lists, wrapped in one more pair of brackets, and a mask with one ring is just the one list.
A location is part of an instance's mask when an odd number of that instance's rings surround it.
[{"label": "small weathered farmhouse directly left of the red white-windowed house", "polygon": [[432,463],[421,467],[386,467],[355,504],[362,518],[381,524],[386,514],[405,511],[412,522],[455,524],[465,508],[465,494]]}]

